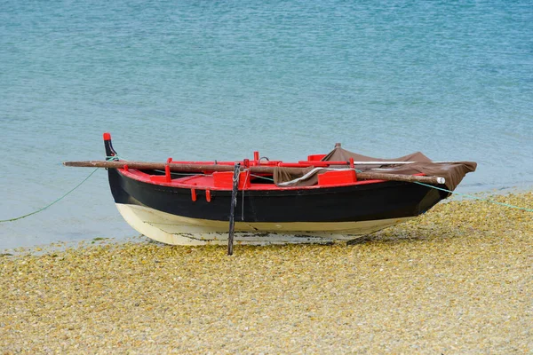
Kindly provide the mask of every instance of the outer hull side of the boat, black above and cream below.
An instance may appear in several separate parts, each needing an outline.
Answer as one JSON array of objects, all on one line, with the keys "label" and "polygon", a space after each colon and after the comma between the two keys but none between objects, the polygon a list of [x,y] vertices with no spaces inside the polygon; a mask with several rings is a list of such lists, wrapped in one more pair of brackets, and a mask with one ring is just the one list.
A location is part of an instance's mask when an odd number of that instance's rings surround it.
[{"label": "outer hull side of the boat, black above and cream below", "polygon": [[[150,184],[108,170],[117,208],[139,233],[169,244],[226,243],[231,191]],[[244,193],[244,195],[243,195]],[[193,198],[195,194],[195,198]],[[416,217],[445,198],[431,187],[380,182],[335,187],[241,190],[235,241],[248,244],[346,241]]]}]

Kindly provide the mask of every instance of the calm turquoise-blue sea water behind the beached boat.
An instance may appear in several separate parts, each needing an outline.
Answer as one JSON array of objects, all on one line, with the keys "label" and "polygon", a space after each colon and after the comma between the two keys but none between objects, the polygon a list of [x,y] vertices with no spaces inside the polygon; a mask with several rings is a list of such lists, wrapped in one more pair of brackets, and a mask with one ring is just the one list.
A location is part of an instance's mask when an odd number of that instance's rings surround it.
[{"label": "calm turquoise-blue sea water behind the beached boat", "polygon": [[[101,159],[283,160],[336,142],[479,163],[459,192],[533,185],[530,1],[0,3],[0,219]],[[105,171],[0,248],[136,235]]]}]

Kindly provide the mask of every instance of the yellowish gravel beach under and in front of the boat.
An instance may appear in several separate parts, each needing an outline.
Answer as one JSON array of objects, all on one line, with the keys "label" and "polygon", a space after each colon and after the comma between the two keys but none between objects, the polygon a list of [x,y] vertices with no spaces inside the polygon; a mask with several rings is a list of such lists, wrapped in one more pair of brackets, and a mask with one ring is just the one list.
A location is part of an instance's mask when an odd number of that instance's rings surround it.
[{"label": "yellowish gravel beach under and in front of the boat", "polygon": [[[533,193],[494,197],[533,209]],[[102,243],[102,244],[99,244]],[[0,353],[533,353],[533,213],[441,203],[353,244],[0,257]]]}]

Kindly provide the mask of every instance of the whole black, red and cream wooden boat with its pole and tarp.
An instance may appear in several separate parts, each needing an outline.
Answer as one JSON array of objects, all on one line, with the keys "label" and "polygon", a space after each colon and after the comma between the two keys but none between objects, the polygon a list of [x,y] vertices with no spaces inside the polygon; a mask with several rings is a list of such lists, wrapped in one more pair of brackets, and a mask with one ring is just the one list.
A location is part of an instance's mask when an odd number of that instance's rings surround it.
[{"label": "whole black, red and cream wooden boat with its pole and tarp", "polygon": [[[444,185],[457,180],[450,167],[461,167],[460,178],[475,170],[475,163],[435,163],[423,154],[376,160],[340,145],[292,163],[259,159],[258,152],[242,162],[129,162],[117,159],[109,133],[104,144],[107,161],[64,164],[107,168],[126,222],[155,241],[179,245],[226,244],[228,221],[243,244],[353,240],[446,198],[434,187],[455,188]],[[448,175],[424,172],[439,169]]]}]

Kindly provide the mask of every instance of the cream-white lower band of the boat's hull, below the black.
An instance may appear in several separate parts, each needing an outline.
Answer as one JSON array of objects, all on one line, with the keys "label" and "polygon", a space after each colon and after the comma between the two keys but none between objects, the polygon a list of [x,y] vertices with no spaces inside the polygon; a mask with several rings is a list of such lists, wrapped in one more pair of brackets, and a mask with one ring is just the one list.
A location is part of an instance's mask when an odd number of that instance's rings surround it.
[{"label": "cream-white lower band of the boat's hull, below the black", "polygon": [[[174,245],[227,244],[229,222],[171,215],[147,207],[116,203],[123,218],[139,233]],[[328,243],[350,241],[412,217],[362,222],[235,222],[238,244]]]}]

